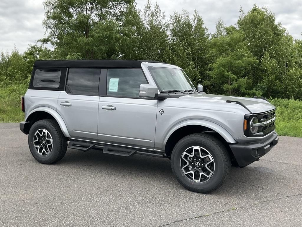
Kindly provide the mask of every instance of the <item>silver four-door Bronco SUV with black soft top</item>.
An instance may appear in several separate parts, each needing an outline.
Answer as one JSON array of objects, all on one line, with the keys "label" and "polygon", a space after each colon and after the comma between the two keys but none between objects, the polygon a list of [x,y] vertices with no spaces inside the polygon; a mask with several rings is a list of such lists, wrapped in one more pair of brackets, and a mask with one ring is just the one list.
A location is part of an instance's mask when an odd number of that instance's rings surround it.
[{"label": "silver four-door Bronco SUV with black soft top", "polygon": [[194,192],[217,189],[231,165],[247,166],[278,143],[267,100],[205,94],[162,62],[35,61],[22,109],[20,129],[40,163],[58,162],[67,148],[166,157]]}]

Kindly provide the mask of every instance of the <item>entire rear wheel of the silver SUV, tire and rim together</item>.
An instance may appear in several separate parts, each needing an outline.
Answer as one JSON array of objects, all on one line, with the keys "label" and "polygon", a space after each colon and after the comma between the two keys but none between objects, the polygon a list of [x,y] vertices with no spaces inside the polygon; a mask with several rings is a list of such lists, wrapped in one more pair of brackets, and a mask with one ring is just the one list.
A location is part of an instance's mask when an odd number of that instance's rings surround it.
[{"label": "entire rear wheel of the silver SUV, tire and rim together", "polygon": [[67,138],[55,120],[39,120],[29,130],[28,146],[39,163],[52,164],[64,157]]}]

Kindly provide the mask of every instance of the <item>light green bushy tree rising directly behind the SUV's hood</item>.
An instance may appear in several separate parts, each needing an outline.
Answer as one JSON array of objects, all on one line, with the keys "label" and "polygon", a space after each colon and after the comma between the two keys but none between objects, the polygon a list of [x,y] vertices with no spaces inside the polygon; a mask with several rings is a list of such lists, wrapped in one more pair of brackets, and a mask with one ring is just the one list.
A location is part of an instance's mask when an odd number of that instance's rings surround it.
[{"label": "light green bushy tree rising directly behind the SUV's hood", "polygon": [[246,47],[244,34],[235,27],[226,28],[225,36],[216,36],[210,40],[211,58],[209,74],[212,84],[215,85],[213,92],[227,95],[248,94],[252,74],[252,66],[258,60]]}]

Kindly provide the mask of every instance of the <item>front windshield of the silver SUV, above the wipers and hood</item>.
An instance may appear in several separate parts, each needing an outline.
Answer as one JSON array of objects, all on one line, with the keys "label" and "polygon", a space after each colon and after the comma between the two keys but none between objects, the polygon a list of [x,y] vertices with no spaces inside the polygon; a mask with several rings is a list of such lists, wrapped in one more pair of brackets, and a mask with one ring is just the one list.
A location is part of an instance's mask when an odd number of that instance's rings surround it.
[{"label": "front windshield of the silver SUV, above the wipers and hood", "polygon": [[181,69],[148,67],[160,91],[195,90],[194,85]]}]

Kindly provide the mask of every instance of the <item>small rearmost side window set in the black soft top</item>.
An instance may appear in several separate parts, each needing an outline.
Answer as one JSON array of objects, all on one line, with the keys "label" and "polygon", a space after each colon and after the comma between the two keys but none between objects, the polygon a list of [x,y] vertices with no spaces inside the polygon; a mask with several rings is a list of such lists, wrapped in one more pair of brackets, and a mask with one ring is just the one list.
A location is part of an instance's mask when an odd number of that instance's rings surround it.
[{"label": "small rearmost side window set in the black soft top", "polygon": [[60,85],[61,70],[37,69],[34,74],[34,87],[57,88]]}]

